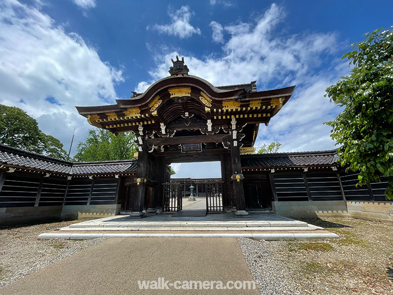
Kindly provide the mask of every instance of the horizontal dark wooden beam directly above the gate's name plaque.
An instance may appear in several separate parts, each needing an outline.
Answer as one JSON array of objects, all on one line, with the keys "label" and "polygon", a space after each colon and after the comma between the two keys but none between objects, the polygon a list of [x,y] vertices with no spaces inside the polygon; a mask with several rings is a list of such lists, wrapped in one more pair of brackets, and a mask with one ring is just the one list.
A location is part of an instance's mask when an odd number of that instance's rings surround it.
[{"label": "horizontal dark wooden beam directly above the gate's name plaque", "polygon": [[199,136],[179,136],[179,137],[166,137],[166,138],[151,138],[146,139],[148,146],[155,145],[181,145],[181,144],[196,144],[196,143],[221,143],[228,141],[230,135],[227,134],[213,134],[213,135],[199,135]]}]

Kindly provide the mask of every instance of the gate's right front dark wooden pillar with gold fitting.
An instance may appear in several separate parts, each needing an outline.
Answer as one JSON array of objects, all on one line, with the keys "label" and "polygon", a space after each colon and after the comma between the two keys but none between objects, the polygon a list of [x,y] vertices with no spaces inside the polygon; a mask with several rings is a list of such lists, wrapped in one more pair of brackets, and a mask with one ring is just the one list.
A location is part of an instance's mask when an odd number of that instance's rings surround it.
[{"label": "gate's right front dark wooden pillar with gold fitting", "polygon": [[[235,192],[236,198],[236,215],[248,215],[249,213],[246,211],[246,202],[244,200],[244,189],[243,189],[243,174],[242,174],[242,165],[240,163],[240,147],[237,139],[233,139],[233,136],[230,140],[230,155],[232,161],[232,185],[233,190]],[[239,179],[233,179],[236,176],[240,176]]]}]

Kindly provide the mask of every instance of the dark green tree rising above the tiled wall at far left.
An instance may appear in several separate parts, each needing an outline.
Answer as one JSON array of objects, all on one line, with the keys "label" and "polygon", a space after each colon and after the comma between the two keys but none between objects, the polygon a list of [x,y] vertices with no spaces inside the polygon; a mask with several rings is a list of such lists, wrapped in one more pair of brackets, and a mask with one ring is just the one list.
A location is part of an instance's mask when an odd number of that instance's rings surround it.
[{"label": "dark green tree rising above the tiled wall at far left", "polygon": [[0,143],[14,148],[67,159],[63,144],[38,128],[34,118],[20,108],[0,104]]}]

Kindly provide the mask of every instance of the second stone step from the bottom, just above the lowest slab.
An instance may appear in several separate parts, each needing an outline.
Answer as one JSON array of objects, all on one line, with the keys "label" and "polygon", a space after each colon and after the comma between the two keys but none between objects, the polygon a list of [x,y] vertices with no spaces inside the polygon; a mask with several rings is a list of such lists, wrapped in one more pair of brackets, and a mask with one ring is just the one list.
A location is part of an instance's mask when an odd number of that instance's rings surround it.
[{"label": "second stone step from the bottom, just above the lowest slab", "polygon": [[323,230],[318,226],[302,226],[302,227],[88,227],[75,228],[64,227],[59,229],[60,232],[133,232],[133,231],[154,231],[154,232],[289,232],[289,231],[316,231]]}]

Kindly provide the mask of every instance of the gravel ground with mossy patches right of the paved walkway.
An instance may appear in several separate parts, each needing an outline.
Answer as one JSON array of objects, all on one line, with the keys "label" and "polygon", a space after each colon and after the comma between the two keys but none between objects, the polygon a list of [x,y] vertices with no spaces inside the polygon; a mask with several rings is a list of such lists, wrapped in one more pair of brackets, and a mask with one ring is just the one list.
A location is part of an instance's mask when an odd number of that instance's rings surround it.
[{"label": "gravel ground with mossy patches right of the paved walkway", "polygon": [[238,239],[261,294],[393,294],[392,225],[347,217],[303,221],[340,238]]}]

